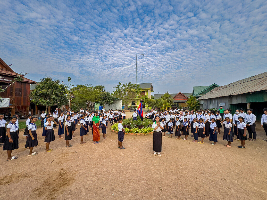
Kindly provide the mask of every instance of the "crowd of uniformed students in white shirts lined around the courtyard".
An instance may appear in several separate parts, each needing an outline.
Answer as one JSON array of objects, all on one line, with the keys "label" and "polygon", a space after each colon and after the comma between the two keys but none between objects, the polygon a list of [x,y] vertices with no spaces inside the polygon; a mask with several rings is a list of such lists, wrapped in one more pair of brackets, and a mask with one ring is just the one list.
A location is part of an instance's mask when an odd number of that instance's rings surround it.
[{"label": "crowd of uniformed students in white shirts lined around the courtyard", "polygon": [[[264,114],[261,118],[261,126],[264,128],[267,137],[267,108],[263,109]],[[154,119],[152,127],[155,126],[154,130],[160,130],[163,132],[161,137],[165,137],[167,133],[169,138],[175,133],[176,139],[181,139],[181,135],[184,135],[184,140],[188,139],[189,129],[191,130],[191,137],[194,137],[193,142],[198,142],[199,144],[204,143],[204,138],[209,138],[211,145],[216,145],[217,134],[220,134],[221,127],[223,125],[223,140],[228,141],[225,144],[226,147],[231,147],[231,142],[233,139],[241,141],[239,148],[245,148],[245,140],[256,141],[256,116],[252,114],[252,109],[247,109],[248,114],[244,113],[243,109],[235,110],[235,114],[231,114],[231,109],[222,109],[222,107],[217,110],[200,109],[195,113],[193,110],[183,110],[178,109],[172,110],[150,110],[145,113],[144,117],[148,119]],[[135,115],[134,115],[135,114]],[[135,119],[138,114],[136,110],[133,114]],[[46,149],[45,152],[51,152],[52,149],[49,148],[50,142],[55,140],[54,129],[58,125],[58,138],[66,141],[66,147],[71,147],[69,140],[72,140],[77,125],[80,125],[80,137],[81,144],[86,142],[83,140],[83,136],[88,135],[89,130],[92,130],[93,143],[97,144],[100,142],[100,129],[102,130],[103,138],[106,139],[106,129],[108,122],[113,124],[118,123],[119,134],[118,134],[118,148],[125,149],[122,146],[124,129],[121,125],[123,119],[125,119],[125,112],[121,110],[105,110],[105,107],[100,110],[88,111],[81,108],[80,111],[74,112],[74,110],[68,109],[66,113],[58,113],[58,109],[48,114],[42,111],[41,114],[41,126],[43,127],[42,136],[45,137]],[[0,114],[0,145],[3,143],[3,150],[7,150],[7,160],[17,159],[16,156],[11,156],[12,150],[18,149],[18,115],[11,117],[10,123],[6,125],[6,121],[3,114]],[[157,119],[158,118],[158,119]],[[25,148],[29,148],[29,156],[36,155],[37,152],[33,151],[33,147],[38,145],[37,134],[36,134],[36,124],[37,117],[29,114],[26,123],[26,129],[23,136],[26,137]],[[64,128],[65,123],[65,128]],[[248,130],[249,138],[247,138],[246,130]],[[64,137],[62,136],[64,135]],[[253,136],[253,137],[252,137]],[[198,137],[201,141],[198,141]],[[263,140],[267,140],[263,139]],[[159,149],[159,148],[157,148]],[[160,151],[161,151],[161,138],[160,138]],[[159,151],[157,151],[159,153]]]}]

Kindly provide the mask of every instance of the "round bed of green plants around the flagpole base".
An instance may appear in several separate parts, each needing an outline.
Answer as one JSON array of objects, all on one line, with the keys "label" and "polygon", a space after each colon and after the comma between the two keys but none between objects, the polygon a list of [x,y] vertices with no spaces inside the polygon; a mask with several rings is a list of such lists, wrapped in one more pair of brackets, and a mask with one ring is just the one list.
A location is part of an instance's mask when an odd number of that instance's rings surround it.
[{"label": "round bed of green plants around the flagpole base", "polygon": [[[138,117],[138,120],[133,121],[132,118],[124,119],[122,122],[125,134],[127,135],[148,135],[153,133],[152,123],[150,119],[144,119],[143,121]],[[118,133],[118,124],[114,123],[111,126],[113,132]]]}]

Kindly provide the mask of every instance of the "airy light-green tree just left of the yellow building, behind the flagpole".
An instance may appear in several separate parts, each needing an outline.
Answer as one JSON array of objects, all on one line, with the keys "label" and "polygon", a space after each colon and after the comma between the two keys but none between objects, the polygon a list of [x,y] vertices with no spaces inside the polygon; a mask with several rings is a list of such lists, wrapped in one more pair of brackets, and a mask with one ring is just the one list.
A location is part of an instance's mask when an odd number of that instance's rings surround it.
[{"label": "airy light-green tree just left of the yellow building, behind the flagpole", "polygon": [[[119,82],[119,84],[116,87],[113,87],[113,89],[115,89],[115,91],[113,91],[112,96],[122,99],[122,104],[125,105],[126,109],[132,101],[135,101],[135,84],[132,84],[132,82],[126,84]],[[141,88],[139,85],[137,85],[136,94],[139,94],[140,91]]]}]

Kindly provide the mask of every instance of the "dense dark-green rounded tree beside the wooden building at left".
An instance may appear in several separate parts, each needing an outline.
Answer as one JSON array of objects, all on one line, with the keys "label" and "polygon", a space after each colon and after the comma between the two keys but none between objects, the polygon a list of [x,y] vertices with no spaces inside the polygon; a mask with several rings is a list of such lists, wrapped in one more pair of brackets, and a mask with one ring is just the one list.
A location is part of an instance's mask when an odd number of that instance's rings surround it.
[{"label": "dense dark-green rounded tree beside the wooden building at left", "polygon": [[31,91],[29,97],[37,105],[46,106],[45,112],[47,112],[48,106],[66,105],[68,103],[66,98],[67,87],[60,82],[57,79],[53,81],[50,77],[42,78],[36,88]]}]

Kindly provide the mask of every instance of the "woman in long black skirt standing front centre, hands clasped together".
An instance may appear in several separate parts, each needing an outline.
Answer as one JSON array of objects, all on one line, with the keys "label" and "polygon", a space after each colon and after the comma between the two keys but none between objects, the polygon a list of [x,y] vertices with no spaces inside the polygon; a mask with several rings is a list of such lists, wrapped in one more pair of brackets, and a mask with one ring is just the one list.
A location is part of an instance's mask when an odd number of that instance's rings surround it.
[{"label": "woman in long black skirt standing front centre, hands clasped together", "polygon": [[153,150],[154,150],[154,155],[161,156],[161,130],[163,130],[163,124],[159,122],[159,116],[155,117],[155,122],[152,124],[152,128],[154,129],[153,133]]}]

